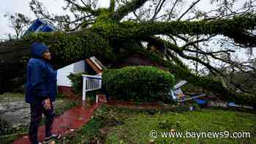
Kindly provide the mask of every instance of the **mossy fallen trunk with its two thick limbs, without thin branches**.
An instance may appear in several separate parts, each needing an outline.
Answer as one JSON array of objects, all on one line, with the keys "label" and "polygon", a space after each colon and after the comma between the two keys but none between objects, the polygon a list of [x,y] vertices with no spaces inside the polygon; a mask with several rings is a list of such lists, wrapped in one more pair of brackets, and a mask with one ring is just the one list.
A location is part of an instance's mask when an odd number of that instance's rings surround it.
[{"label": "mossy fallen trunk with its two thick limbs, without thin branches", "polygon": [[[115,18],[118,19],[118,17]],[[153,56],[150,53],[148,54],[145,49],[141,48],[140,43],[142,39],[157,34],[223,34],[233,38],[235,42],[255,46],[255,37],[244,37],[245,30],[254,29],[256,24],[255,16],[252,18],[241,17],[227,20],[202,20],[195,22],[173,21],[170,23],[117,23],[111,20],[100,22],[100,20],[108,20],[108,18],[99,19],[99,23],[95,23],[91,29],[84,29],[69,34],[61,32],[31,34],[16,42],[0,43],[0,92],[10,89],[10,83],[15,82],[15,77],[24,77],[26,64],[29,59],[30,45],[33,42],[45,42],[50,47],[50,52],[53,53],[51,63],[55,69],[90,56],[101,58],[108,55],[109,51],[113,53],[113,50],[106,48],[117,50],[116,52],[118,53],[116,56],[119,59],[124,53],[120,53],[118,50],[124,49],[130,54],[132,50],[138,49],[140,56],[154,59],[155,62],[167,68],[176,77],[186,79],[190,83],[213,91],[225,97],[225,99],[236,99],[241,104],[255,105],[255,96],[249,96],[246,99],[244,96],[239,96],[238,94],[234,94],[233,91],[229,91],[216,80],[192,75],[186,67],[167,63],[163,58]],[[236,29],[233,29],[234,27]],[[241,33],[238,33],[237,29]],[[243,37],[241,38],[241,36]],[[176,53],[180,51],[177,49],[173,50]]]}]

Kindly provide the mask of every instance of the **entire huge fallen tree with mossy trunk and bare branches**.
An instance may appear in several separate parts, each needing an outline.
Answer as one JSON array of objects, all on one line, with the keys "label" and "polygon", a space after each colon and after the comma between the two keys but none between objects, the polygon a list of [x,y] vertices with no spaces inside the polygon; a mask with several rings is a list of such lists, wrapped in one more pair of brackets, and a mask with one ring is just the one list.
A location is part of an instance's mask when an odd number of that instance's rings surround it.
[{"label": "entire huge fallen tree with mossy trunk and bare branches", "polygon": [[[135,21],[125,20],[124,17],[130,12],[135,12],[142,7],[147,0],[132,0],[116,8],[116,1],[110,1],[110,7],[92,9],[91,5],[81,6],[77,1],[67,1],[73,10],[84,12],[84,18],[78,27],[78,31],[39,33],[30,34],[23,39],[12,42],[0,43],[0,92],[10,89],[11,83],[15,83],[15,77],[24,77],[26,63],[29,59],[29,48],[33,42],[45,42],[50,47],[53,54],[53,64],[55,69],[83,60],[90,56],[97,56],[112,63],[115,67],[116,61],[121,61],[132,53],[139,53],[155,61],[159,66],[172,72],[176,77],[186,79],[197,86],[214,91],[215,94],[223,96],[225,99],[233,100],[246,105],[255,105],[255,95],[236,94],[222,85],[217,80],[207,77],[200,77],[193,74],[183,63],[181,58],[196,61],[206,67],[212,74],[222,75],[222,72],[208,62],[196,56],[189,56],[186,52],[195,50],[204,56],[211,56],[221,61],[216,54],[224,53],[230,55],[232,50],[217,50],[206,52],[196,47],[197,42],[207,41],[210,38],[190,41],[185,35],[191,37],[203,35],[213,37],[223,35],[233,39],[233,42],[244,47],[255,47],[255,35],[249,31],[255,30],[256,15],[253,12],[244,12],[242,15],[232,15],[228,18],[213,18],[203,20],[166,20],[165,22],[148,20]],[[165,1],[159,1],[158,7]],[[156,9],[156,12],[158,8]],[[89,14],[88,14],[89,13]],[[157,14],[156,14],[157,15]],[[91,19],[87,19],[87,18]],[[91,23],[89,23],[91,20]],[[69,22],[70,24],[71,22]],[[90,25],[89,25],[90,24]],[[167,36],[170,39],[162,39]],[[175,38],[186,41],[186,45],[178,46]],[[141,42],[147,42],[143,46]],[[156,48],[152,50],[151,48]],[[196,49],[191,49],[191,47]],[[147,50],[146,50],[147,48]],[[193,52],[193,51],[192,51]],[[253,68],[253,67],[252,67]],[[223,75],[224,76],[224,75]],[[24,81],[21,80],[22,83]],[[12,86],[15,87],[15,86]],[[241,99],[243,102],[241,102]]]}]

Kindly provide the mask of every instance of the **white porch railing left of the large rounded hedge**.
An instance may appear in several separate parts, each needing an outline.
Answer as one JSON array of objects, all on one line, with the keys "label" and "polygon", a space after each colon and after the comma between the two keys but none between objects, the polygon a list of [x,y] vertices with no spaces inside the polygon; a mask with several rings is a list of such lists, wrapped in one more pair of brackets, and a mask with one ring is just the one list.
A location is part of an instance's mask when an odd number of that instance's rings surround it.
[{"label": "white porch railing left of the large rounded hedge", "polygon": [[86,92],[102,88],[102,74],[83,76],[83,101],[86,100]]}]

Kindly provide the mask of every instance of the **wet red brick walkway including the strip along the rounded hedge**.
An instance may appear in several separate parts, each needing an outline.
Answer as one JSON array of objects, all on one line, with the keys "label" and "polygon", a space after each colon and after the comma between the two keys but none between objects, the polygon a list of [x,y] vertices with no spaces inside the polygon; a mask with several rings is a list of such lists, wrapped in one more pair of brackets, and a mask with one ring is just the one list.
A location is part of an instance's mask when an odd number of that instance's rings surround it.
[{"label": "wet red brick walkway including the strip along the rounded hedge", "polygon": [[[103,98],[104,99],[103,99]],[[76,99],[72,99],[76,100]],[[79,99],[80,100],[80,99]],[[105,102],[105,95],[99,96],[99,103],[96,105],[92,105],[91,107],[85,108],[82,105],[73,107],[70,110],[64,112],[64,114],[59,115],[54,118],[53,122],[53,134],[69,134],[70,132],[79,129],[81,126],[86,124],[91,115],[93,115],[94,110],[96,110],[102,103]],[[107,102],[107,105],[119,105],[119,106],[128,106],[128,107],[164,107],[162,105],[158,105],[157,102],[151,103],[141,103],[140,105],[136,105],[135,102],[121,102],[110,100]],[[42,141],[45,137],[45,126],[40,126],[38,130],[39,141]],[[29,144],[29,137],[25,135],[20,137],[19,140],[16,140],[13,144]]]}]

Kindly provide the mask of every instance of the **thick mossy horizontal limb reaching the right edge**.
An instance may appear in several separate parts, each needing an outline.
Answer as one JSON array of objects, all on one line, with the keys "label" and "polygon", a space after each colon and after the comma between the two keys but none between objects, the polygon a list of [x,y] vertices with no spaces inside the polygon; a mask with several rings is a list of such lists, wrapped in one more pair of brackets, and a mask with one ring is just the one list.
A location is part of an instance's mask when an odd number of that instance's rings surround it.
[{"label": "thick mossy horizontal limb reaching the right edge", "polygon": [[[234,39],[235,42],[248,47],[256,45],[255,36],[249,36],[244,31],[254,30],[256,15],[238,16],[224,20],[199,20],[199,21],[172,21],[157,23],[122,23],[120,31],[127,37],[143,37],[155,34],[188,34],[214,35],[222,34]],[[130,32],[132,31],[132,33]],[[131,34],[131,35],[129,35]]]}]

